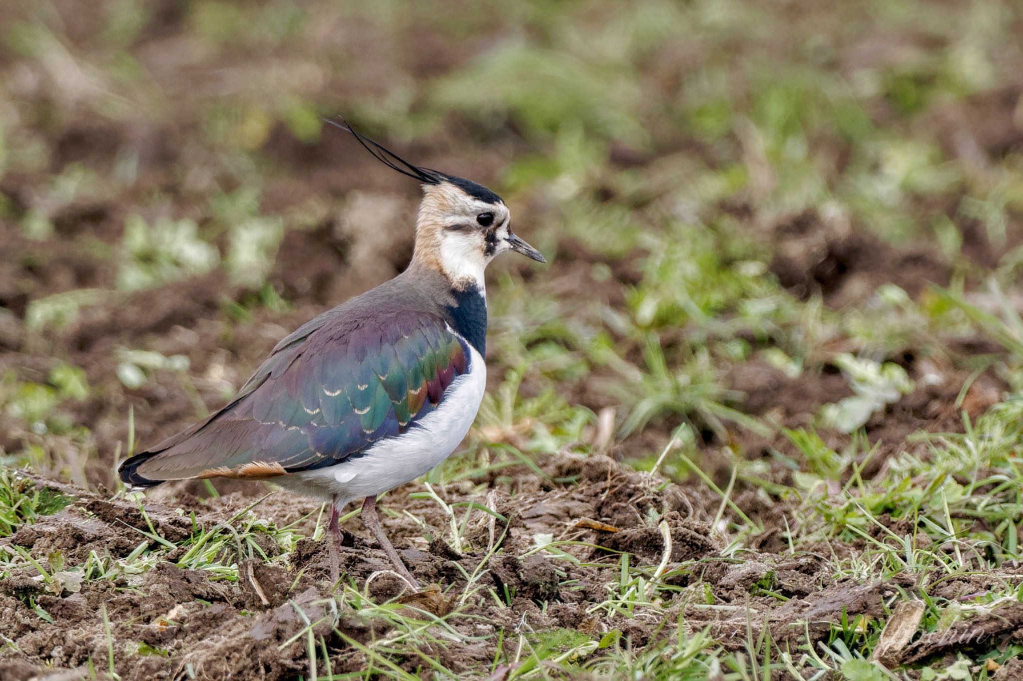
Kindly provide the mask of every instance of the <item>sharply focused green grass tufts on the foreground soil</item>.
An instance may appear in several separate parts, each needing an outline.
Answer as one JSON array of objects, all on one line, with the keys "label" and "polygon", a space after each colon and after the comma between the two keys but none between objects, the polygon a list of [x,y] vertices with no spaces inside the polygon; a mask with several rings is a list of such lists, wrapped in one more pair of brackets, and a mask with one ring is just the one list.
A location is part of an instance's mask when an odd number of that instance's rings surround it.
[{"label": "sharply focused green grass tufts on the foreground soil", "polygon": [[[801,503],[785,504],[785,513],[793,528],[788,537],[793,550],[798,554],[801,546],[820,540],[854,543],[857,539],[865,539],[868,546],[861,553],[851,558],[832,561],[831,570],[834,571],[835,578],[854,577],[869,582],[886,575],[904,574],[923,579],[918,586],[921,597],[927,602],[927,611],[921,623],[924,633],[947,628],[963,618],[970,617],[971,612],[977,609],[996,609],[1009,602],[1018,602],[1023,582],[1013,581],[1012,578],[1003,580],[1000,590],[989,590],[966,600],[948,600],[928,595],[929,585],[939,585],[955,575],[983,573],[1017,555],[1015,524],[1023,513],[1018,492],[1021,488],[1019,461],[1014,453],[1023,439],[1023,431],[1020,430],[1023,419],[1018,402],[1019,400],[1015,400],[997,405],[965,434],[930,438],[932,458],[927,466],[922,465],[919,459],[910,463],[906,460],[908,457],[903,457],[883,478],[850,483],[840,494],[830,494],[824,498],[812,495]],[[979,433],[985,435],[980,436]],[[994,442],[990,442],[991,440]],[[970,456],[965,454],[968,451],[972,452]],[[452,469],[459,465],[463,466],[464,461],[453,459],[446,465],[452,478],[457,478],[457,471]],[[910,468],[903,470],[905,465]],[[1016,467],[1015,475],[1012,473],[1013,467]],[[978,471],[984,471],[984,475],[976,475]],[[964,472],[971,475],[973,482],[966,486],[952,484],[949,487],[949,478]],[[32,522],[39,516],[54,513],[69,501],[45,489],[25,484],[24,480],[18,481],[7,473],[4,476],[3,517],[5,526],[11,529]],[[914,481],[911,486],[905,484],[907,479]],[[798,497],[797,490],[777,496],[784,499],[790,495]],[[430,488],[418,496],[433,499],[449,516],[451,522],[445,540],[456,550],[470,547],[462,536],[470,514],[489,514],[503,520],[503,517],[483,504],[450,506]],[[233,581],[237,579],[238,558],[258,556],[264,561],[277,562],[294,550],[294,540],[297,538],[294,531],[276,528],[259,520],[258,503],[259,501],[255,502],[214,527],[197,527],[192,536],[183,542],[169,542],[151,532],[140,532],[142,541],[138,548],[121,561],[112,562],[93,552],[81,567],[61,565],[56,555],[51,555],[49,565],[44,566],[36,564],[27,552],[17,551],[13,555],[7,554],[5,565],[0,566],[0,569],[9,570],[33,563],[46,584],[57,580],[59,576],[60,588],[75,590],[81,588],[79,585],[82,581],[113,582],[119,575],[144,572],[157,562],[167,560],[169,552],[174,552],[179,556],[176,563],[180,567],[206,570],[217,578]],[[885,523],[879,520],[882,515],[911,518],[916,528],[913,535],[899,535],[884,529]],[[728,516],[731,518],[728,536],[738,537],[755,532],[744,521],[730,514]],[[978,531],[976,526],[979,519],[983,520],[983,526],[993,528],[993,532]],[[882,532],[872,535],[872,526],[882,528]],[[258,533],[272,536],[280,546],[281,554],[265,554],[254,541]],[[499,544],[500,541],[496,543]],[[482,550],[486,547],[476,548]],[[486,556],[489,557],[493,550],[494,547],[491,547]],[[562,550],[558,542],[543,544],[542,548],[538,547],[527,554],[536,550],[542,550],[555,565],[561,561],[578,563],[571,553]],[[742,557],[741,542],[731,544],[723,555],[728,555],[729,552],[736,557]],[[636,565],[629,560],[628,554],[622,554],[619,564],[617,582],[609,585],[606,599],[594,603],[589,609],[590,612],[626,619],[643,619],[650,616],[663,619],[668,613],[668,606],[681,600],[705,607],[724,609],[742,617],[742,607],[719,605],[713,596],[708,597],[709,592],[699,580],[691,581],[683,588],[673,587],[658,579],[660,569]],[[481,563],[481,567],[482,565]],[[685,572],[696,567],[682,564],[674,570]],[[474,586],[478,584],[480,574],[477,571],[468,576],[469,587],[457,599],[455,610],[444,618],[410,611],[393,602],[377,603],[367,598],[358,585],[343,586],[331,606],[333,615],[329,617],[333,618],[332,621],[337,623],[338,618],[349,613],[360,619],[386,623],[389,632],[386,638],[364,644],[339,631],[338,635],[349,645],[346,654],[361,655],[359,664],[366,665],[373,673],[406,678],[407,673],[402,671],[400,665],[403,661],[407,662],[410,651],[421,650],[431,645],[452,645],[464,640],[463,634],[445,626],[446,619],[465,617],[466,614],[461,609],[481,598],[501,598],[501,594],[493,593],[492,589]],[[770,581],[764,582],[764,586],[760,588],[767,589],[760,591],[761,594],[771,593]],[[756,593],[751,591],[751,594]],[[891,604],[894,605],[899,599],[896,598]],[[39,617],[45,620],[45,611],[41,611],[38,605],[36,607]],[[329,658],[322,654],[320,644],[313,637],[312,629],[317,624],[320,623],[308,623],[307,628],[298,632],[294,640],[308,639],[310,669],[320,670],[329,664]],[[795,670],[810,677],[824,671],[837,670],[842,670],[849,678],[875,678],[855,675],[881,674],[880,671],[869,671],[864,666],[869,663],[858,666],[850,663],[870,658],[883,628],[883,622],[864,621],[859,616],[848,622],[836,622],[831,641],[816,647],[798,644],[795,648],[789,645],[779,646],[770,640],[766,630],[753,627],[751,632],[760,633],[751,634],[745,651],[733,653],[716,649],[708,631],[699,628],[694,630],[685,622],[665,621],[662,626],[666,638],[638,650],[627,646],[621,638],[621,632],[615,633],[615,630],[601,635],[554,631],[538,632],[534,636],[521,632],[514,646],[517,652],[506,659],[501,656],[497,663],[514,665],[516,678],[558,678],[560,672],[554,670],[563,670],[565,673],[570,673],[571,670],[588,670],[612,675],[646,674],[653,675],[653,678],[704,678],[711,672],[721,670],[725,678],[729,679],[762,678],[764,674],[780,674],[783,670]],[[445,631],[448,633],[445,634]],[[504,635],[510,634],[505,632]],[[505,646],[504,649],[507,650],[508,647]],[[425,663],[424,669],[428,668],[440,674],[441,678],[456,676],[438,668],[436,661],[431,660],[429,667]]]}]

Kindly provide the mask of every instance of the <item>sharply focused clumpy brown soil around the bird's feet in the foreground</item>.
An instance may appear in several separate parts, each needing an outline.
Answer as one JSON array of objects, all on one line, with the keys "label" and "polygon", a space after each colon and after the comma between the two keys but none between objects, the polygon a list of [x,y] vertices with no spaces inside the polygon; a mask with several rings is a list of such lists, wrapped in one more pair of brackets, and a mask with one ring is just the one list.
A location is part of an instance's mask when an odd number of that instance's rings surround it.
[{"label": "sharply focused clumpy brown soil around the bird's feet in the foreground", "polygon": [[[827,640],[832,623],[843,613],[850,619],[877,617],[900,591],[915,593],[920,576],[901,574],[868,584],[855,579],[836,581],[828,570],[828,555],[789,555],[777,551],[769,536],[761,538],[761,549],[744,551],[742,560],[723,555],[724,538],[711,527],[716,502],[705,488],[664,485],[658,478],[599,455],[555,455],[541,467],[542,476],[525,468],[506,469],[500,478],[472,481],[486,483],[484,493],[466,495],[457,485],[443,490],[449,503],[475,501],[507,519],[504,523],[477,510],[464,534],[474,548],[462,553],[441,539],[448,517],[434,502],[410,499],[411,486],[387,497],[387,507],[409,512],[435,532],[437,538],[428,543],[413,520],[385,516],[386,530],[413,575],[432,585],[426,593],[405,592],[404,584],[389,572],[383,551],[364,538],[357,521],[346,527],[343,581],[380,602],[397,598],[397,602],[445,616],[462,602],[466,575],[482,574],[474,579],[466,604],[446,619],[464,639],[422,650],[456,673],[485,669],[495,659],[500,630],[505,632],[505,646],[515,645],[514,633],[564,628],[587,634],[617,630],[623,643],[638,648],[671,635],[672,627],[665,623],[682,616],[693,631],[709,627],[726,648],[741,650],[750,627],[755,635],[760,628],[769,628],[783,645],[805,642],[807,633],[816,643]],[[24,484],[73,495],[59,512],[3,541],[25,547],[39,562],[45,563],[54,551],[60,551],[69,564],[83,562],[90,551],[124,558],[140,538],[145,541],[142,532],[149,530],[136,503],[109,500],[39,478],[26,479]],[[316,509],[308,500],[284,492],[263,503],[255,512],[281,525]],[[182,541],[196,531],[192,520],[178,513],[182,504],[147,501],[144,505],[152,529],[166,539]],[[184,507],[195,512],[199,528],[211,529],[230,519],[239,505],[237,497],[226,496],[202,503],[186,500]],[[663,515],[670,529],[667,556],[661,533],[646,521],[651,510]],[[461,522],[460,514],[458,519]],[[766,515],[754,520],[770,526]],[[768,535],[772,532],[777,529]],[[550,535],[547,541],[580,542],[560,545],[579,564],[536,550],[537,537],[543,535]],[[154,541],[150,545],[157,547]],[[263,545],[271,557],[279,551],[272,538],[265,536]],[[495,546],[503,550],[493,553]],[[858,550],[841,543],[832,543],[830,548],[839,554]],[[365,659],[352,641],[366,643],[393,633],[387,621],[367,618],[350,605],[331,614],[322,541],[302,539],[286,558],[269,564],[244,554],[231,555],[235,550],[225,549],[225,562],[238,561],[237,583],[217,580],[206,571],[178,568],[173,554],[142,575],[110,582],[60,582],[57,574],[53,583],[46,584],[33,570],[15,573],[0,586],[0,622],[4,636],[23,655],[0,661],[0,678],[82,672],[89,660],[105,661],[109,645],[123,679],[186,678],[186,670],[195,678],[296,678],[308,671],[308,656],[306,637],[295,635],[306,630],[308,622],[320,620],[324,621],[313,631],[329,646],[335,673],[357,672]],[[675,591],[656,618],[592,611],[592,604],[607,597],[618,578],[623,551],[634,566],[654,568],[666,561],[662,579]],[[984,588],[985,579],[999,577],[949,581],[941,594],[957,597],[976,592]],[[699,589],[688,588],[697,583]],[[704,604],[710,600],[707,588],[716,603],[713,609]],[[507,594],[506,602],[495,602],[487,595],[490,590]],[[53,622],[43,621],[30,602]],[[797,626],[802,622],[808,623],[808,629]],[[1016,627],[998,618],[974,620],[970,626],[987,627],[992,635]],[[920,639],[900,654],[908,661],[933,658],[951,650],[959,640],[932,638]],[[413,673],[425,671],[422,661],[414,655],[401,667]]]}]

